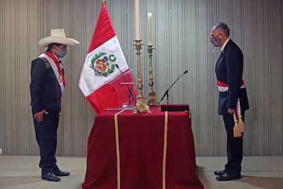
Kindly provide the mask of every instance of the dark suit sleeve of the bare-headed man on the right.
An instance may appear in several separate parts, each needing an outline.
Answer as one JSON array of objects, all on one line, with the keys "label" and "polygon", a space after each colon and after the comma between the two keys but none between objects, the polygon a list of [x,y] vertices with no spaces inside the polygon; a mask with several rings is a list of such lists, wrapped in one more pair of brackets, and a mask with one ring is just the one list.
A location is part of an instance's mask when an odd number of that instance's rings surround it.
[{"label": "dark suit sleeve of the bare-headed man on the right", "polygon": [[230,48],[226,57],[228,75],[228,108],[237,109],[243,75],[243,54],[240,49]]}]

